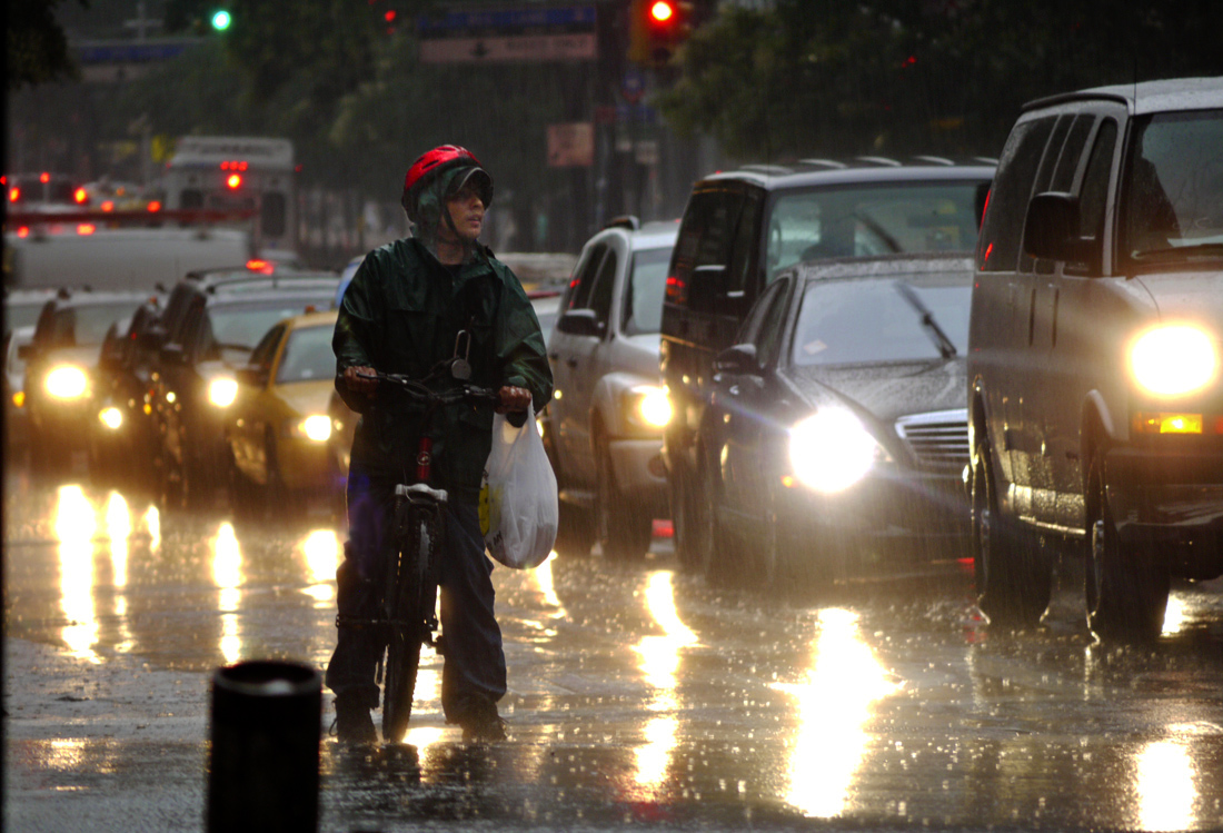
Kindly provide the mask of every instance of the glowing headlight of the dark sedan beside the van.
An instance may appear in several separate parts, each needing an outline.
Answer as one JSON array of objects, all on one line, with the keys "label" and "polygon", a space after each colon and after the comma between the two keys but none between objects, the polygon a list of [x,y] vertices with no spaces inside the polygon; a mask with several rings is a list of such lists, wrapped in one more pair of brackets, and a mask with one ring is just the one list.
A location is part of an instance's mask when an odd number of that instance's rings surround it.
[{"label": "glowing headlight of the dark sedan beside the van", "polygon": [[887,453],[852,413],[817,411],[790,429],[790,465],[805,486],[840,492],[859,482]]}]

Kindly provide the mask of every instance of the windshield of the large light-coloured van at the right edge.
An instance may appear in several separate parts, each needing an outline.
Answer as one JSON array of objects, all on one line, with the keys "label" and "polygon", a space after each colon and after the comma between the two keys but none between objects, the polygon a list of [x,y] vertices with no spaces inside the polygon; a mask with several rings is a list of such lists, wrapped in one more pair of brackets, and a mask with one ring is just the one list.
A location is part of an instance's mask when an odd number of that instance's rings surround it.
[{"label": "windshield of the large light-coloured van at the right edge", "polygon": [[1153,115],[1134,137],[1123,209],[1130,256],[1223,254],[1223,110]]}]

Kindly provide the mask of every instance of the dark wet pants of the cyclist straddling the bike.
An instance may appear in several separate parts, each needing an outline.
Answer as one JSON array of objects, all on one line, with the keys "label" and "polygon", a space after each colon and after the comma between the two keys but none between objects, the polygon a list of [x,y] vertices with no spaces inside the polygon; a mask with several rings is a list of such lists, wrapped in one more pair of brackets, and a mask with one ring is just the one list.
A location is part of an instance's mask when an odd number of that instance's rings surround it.
[{"label": "dark wet pants of the cyclist straddling the bike", "polygon": [[[336,570],[339,640],[327,667],[327,687],[336,696],[363,698],[378,706],[374,668],[384,643],[377,629],[345,624],[382,615],[386,559],[394,558],[391,535],[395,482],[361,472],[349,475],[349,542]],[[473,700],[497,702],[505,695],[501,629],[493,615],[493,564],[484,555],[476,505],[451,502],[443,510],[446,549],[440,561],[442,632],[445,661],[442,707],[446,720],[461,722]]]}]

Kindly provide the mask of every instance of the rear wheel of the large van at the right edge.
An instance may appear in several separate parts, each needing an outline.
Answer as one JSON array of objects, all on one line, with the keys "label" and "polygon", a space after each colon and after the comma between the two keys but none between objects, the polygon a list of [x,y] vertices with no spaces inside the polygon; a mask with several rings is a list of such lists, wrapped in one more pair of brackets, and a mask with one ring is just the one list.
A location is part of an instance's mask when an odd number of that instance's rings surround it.
[{"label": "rear wheel of the large van at the right edge", "polygon": [[1033,536],[998,510],[998,482],[989,445],[977,446],[972,467],[972,568],[977,605],[1000,625],[1040,623],[1053,592],[1053,565]]}]

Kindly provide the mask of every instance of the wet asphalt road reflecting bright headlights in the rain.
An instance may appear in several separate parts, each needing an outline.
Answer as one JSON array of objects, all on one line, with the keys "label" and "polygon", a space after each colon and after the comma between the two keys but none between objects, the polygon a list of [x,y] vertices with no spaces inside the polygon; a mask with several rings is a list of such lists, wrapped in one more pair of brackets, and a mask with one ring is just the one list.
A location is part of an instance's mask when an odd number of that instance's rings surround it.
[{"label": "wet asphalt road reflecting bright headlights in the rain", "polygon": [[[5,488],[6,831],[203,829],[214,669],[322,668],[342,537],[132,495]],[[616,565],[498,569],[510,722],[467,746],[424,658],[419,768],[327,735],[322,831],[1223,828],[1223,582],[1164,637],[1081,626],[1073,566],[1040,631],[991,631],[955,560],[779,601]]]}]

